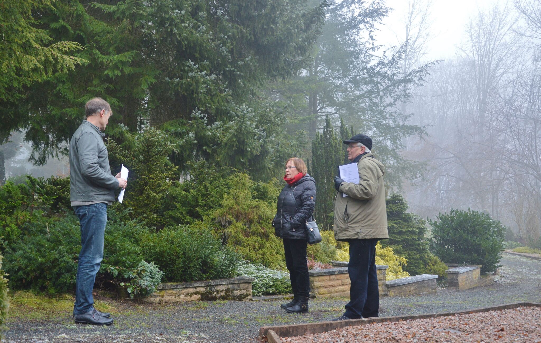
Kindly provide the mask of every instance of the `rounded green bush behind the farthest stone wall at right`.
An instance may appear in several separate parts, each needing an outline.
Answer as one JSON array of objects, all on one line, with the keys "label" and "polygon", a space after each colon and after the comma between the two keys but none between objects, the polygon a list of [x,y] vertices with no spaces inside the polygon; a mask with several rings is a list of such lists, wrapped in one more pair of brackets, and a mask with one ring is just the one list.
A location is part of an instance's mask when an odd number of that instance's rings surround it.
[{"label": "rounded green bush behind the farthest stone wall at right", "polygon": [[500,267],[504,249],[505,228],[486,213],[471,209],[452,209],[430,220],[430,249],[447,263],[481,265],[481,273]]}]

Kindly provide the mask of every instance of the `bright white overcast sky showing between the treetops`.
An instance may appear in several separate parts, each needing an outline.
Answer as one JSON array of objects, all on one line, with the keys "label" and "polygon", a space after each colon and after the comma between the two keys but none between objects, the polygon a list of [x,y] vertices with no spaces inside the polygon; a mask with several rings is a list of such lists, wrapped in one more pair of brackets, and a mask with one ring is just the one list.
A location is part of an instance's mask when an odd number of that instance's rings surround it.
[{"label": "bright white overcast sky showing between the treetops", "polygon": [[[427,1],[427,0],[424,0]],[[387,0],[387,6],[393,8],[390,16],[384,19],[377,34],[379,44],[387,47],[397,45],[393,31],[403,32],[402,20],[407,12],[408,0]],[[444,60],[451,57],[463,39],[464,25],[478,10],[490,9],[495,4],[504,4],[505,0],[432,0],[431,17],[433,38],[428,44],[427,59]],[[509,4],[512,8],[512,3]],[[403,34],[402,34],[403,35]]]}]

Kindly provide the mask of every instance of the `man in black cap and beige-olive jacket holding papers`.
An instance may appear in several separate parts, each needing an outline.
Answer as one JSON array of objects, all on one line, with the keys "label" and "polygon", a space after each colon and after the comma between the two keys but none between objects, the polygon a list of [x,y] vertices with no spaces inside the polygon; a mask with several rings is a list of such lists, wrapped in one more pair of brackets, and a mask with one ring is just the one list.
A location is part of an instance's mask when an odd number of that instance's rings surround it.
[{"label": "man in black cap and beige-olive jacket holding papers", "polygon": [[[349,163],[357,163],[359,184],[334,178],[334,238],[349,242],[348,273],[350,301],[346,312],[334,320],[377,317],[379,312],[378,275],[375,245],[389,238],[385,208],[385,166],[371,153],[372,138],[355,135],[344,141]],[[347,196],[342,196],[346,194]]]}]

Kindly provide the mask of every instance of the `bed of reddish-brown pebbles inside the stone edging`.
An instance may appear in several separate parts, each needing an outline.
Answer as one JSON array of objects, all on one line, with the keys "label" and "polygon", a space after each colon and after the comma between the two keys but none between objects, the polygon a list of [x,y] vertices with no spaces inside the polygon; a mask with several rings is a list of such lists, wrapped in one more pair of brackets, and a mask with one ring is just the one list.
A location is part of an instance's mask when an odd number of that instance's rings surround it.
[{"label": "bed of reddish-brown pebbles inside the stone edging", "polygon": [[349,326],[282,338],[287,343],[541,342],[541,308],[519,307],[470,314]]}]

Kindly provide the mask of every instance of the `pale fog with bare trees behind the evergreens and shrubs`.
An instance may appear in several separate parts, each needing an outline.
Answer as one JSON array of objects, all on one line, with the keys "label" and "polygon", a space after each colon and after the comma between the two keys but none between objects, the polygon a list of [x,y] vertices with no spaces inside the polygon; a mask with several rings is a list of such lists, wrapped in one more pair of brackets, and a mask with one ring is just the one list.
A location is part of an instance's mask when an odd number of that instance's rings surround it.
[{"label": "pale fog with bare trees behind the evergreens and shrubs", "polygon": [[[541,226],[541,3],[539,0],[388,0],[376,43],[409,39],[403,72],[440,62],[410,103],[398,107],[427,136],[404,155],[424,161],[424,179],[402,192],[411,210],[486,211],[523,238]],[[69,174],[67,159],[35,167],[21,134],[6,144],[6,175]]]}]

